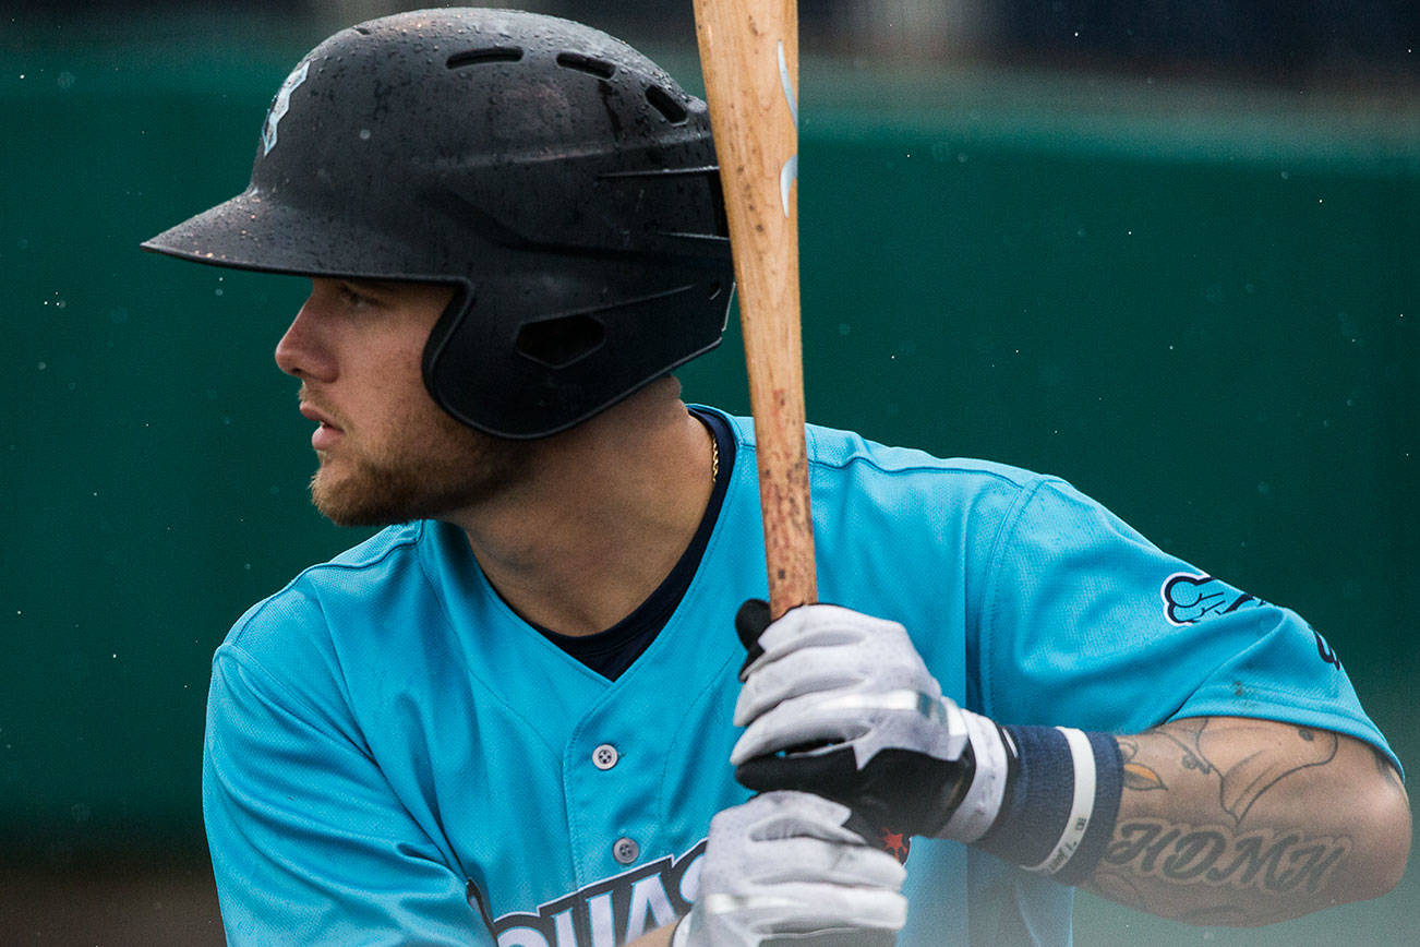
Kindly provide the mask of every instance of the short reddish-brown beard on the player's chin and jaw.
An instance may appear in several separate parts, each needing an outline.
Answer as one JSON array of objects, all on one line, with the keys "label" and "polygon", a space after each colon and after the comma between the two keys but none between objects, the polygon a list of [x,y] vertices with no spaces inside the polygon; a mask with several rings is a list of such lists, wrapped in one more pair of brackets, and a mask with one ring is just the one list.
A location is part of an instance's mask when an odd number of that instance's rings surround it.
[{"label": "short reddish-brown beard on the player's chin and jaw", "polygon": [[432,402],[429,412],[395,425],[398,443],[345,440],[321,453],[311,477],[311,501],[342,527],[388,527],[437,520],[486,501],[523,478],[525,442],[466,427]]}]

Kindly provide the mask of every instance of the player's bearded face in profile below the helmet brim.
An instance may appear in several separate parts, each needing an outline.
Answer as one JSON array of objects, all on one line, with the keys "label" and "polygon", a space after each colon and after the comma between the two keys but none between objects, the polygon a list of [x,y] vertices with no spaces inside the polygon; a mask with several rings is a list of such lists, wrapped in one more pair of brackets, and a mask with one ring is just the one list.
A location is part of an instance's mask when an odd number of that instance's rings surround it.
[{"label": "player's bearded face in profile below the helmet brim", "polygon": [[301,413],[321,466],[311,500],[341,525],[436,518],[479,503],[527,466],[527,444],[446,415],[420,378],[447,285],[311,281],[311,297],[275,348],[301,379]]}]

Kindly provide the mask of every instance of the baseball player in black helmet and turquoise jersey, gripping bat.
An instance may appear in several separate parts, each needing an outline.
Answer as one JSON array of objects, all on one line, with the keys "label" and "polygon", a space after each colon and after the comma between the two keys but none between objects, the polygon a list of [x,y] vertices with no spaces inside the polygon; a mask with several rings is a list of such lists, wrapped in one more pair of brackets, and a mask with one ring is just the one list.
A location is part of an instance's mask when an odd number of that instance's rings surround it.
[{"label": "baseball player in black helmet and turquoise jersey, gripping bat", "polygon": [[1058,944],[1075,886],[1257,924],[1396,883],[1331,646],[1056,478],[809,427],[835,605],[771,622],[753,426],[670,375],[721,217],[662,70],[446,9],[311,51],[250,186],[145,244],[310,277],[312,498],[388,525],[216,653],[230,943]]}]

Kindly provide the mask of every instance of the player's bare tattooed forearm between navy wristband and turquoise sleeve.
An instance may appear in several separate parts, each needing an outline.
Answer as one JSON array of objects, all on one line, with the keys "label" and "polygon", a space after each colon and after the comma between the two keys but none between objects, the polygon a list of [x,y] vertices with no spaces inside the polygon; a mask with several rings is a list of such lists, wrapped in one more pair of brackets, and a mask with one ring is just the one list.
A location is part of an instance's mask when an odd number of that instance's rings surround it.
[{"label": "player's bare tattooed forearm between navy wristband and turquoise sleeve", "polygon": [[1404,869],[1404,789],[1356,740],[1214,717],[1119,747],[1119,818],[1088,890],[1189,923],[1251,926],[1376,897]]}]

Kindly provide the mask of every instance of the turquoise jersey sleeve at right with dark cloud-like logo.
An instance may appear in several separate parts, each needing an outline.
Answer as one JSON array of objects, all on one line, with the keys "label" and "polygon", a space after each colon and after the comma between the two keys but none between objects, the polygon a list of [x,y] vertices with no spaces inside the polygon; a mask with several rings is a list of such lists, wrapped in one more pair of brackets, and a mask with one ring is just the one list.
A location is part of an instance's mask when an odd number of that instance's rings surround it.
[{"label": "turquoise jersey sleeve at right with dark cloud-like logo", "polygon": [[987,575],[981,693],[1003,723],[1137,733],[1258,717],[1349,734],[1394,760],[1301,616],[1162,552],[1069,484],[1022,491]]}]

